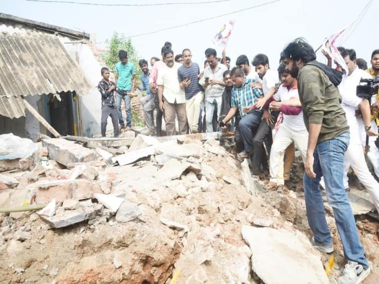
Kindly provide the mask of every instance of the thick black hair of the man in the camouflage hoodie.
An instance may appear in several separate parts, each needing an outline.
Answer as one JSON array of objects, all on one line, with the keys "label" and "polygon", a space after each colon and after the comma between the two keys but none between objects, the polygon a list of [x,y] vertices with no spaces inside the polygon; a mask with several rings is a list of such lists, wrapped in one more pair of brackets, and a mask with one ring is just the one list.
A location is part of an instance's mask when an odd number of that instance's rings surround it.
[{"label": "thick black hair of the man in the camouflage hoodie", "polygon": [[313,47],[303,38],[297,38],[290,42],[283,50],[285,58],[291,58],[294,61],[301,59],[304,63],[316,60],[316,54]]}]

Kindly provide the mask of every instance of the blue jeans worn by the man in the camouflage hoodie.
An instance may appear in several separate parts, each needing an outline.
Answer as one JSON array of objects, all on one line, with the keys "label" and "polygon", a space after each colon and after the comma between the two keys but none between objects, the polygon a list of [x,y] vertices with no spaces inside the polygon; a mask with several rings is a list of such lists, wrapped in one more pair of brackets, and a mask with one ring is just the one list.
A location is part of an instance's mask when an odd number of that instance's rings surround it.
[{"label": "blue jeans worn by the man in the camouflage hoodie", "polygon": [[313,171],[316,178],[304,174],[304,195],[308,223],[318,243],[332,244],[328,224],[326,223],[324,204],[319,182],[325,180],[325,191],[329,205],[333,208],[335,223],[341,237],[345,258],[368,267],[364,248],[359,240],[354,215],[343,186],[343,159],[349,145],[348,132],[320,142],[314,152]]}]

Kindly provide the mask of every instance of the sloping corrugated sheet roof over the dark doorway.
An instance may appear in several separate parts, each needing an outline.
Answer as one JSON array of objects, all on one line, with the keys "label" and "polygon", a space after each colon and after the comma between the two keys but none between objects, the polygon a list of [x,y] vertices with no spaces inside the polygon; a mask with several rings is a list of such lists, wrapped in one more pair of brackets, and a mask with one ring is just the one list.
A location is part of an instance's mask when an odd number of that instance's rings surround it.
[{"label": "sloping corrugated sheet roof over the dark doorway", "polygon": [[55,94],[92,88],[57,36],[0,34],[0,97]]}]

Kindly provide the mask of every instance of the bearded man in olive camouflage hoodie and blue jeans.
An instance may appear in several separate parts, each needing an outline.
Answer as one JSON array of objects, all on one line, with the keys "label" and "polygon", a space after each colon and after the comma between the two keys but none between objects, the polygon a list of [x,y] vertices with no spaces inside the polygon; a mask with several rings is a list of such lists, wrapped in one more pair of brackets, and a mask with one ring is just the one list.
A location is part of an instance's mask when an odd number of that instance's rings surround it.
[{"label": "bearded man in olive camouflage hoodie and blue jeans", "polygon": [[283,53],[286,68],[292,77],[298,78],[299,98],[309,132],[304,195],[308,223],[313,231],[312,245],[326,253],[334,250],[319,186],[323,176],[326,197],[333,208],[344,256],[348,260],[337,281],[339,284],[360,283],[369,274],[370,267],[343,187],[349,126],[336,87],[342,74],[315,61],[313,48],[303,39],[288,44]]}]

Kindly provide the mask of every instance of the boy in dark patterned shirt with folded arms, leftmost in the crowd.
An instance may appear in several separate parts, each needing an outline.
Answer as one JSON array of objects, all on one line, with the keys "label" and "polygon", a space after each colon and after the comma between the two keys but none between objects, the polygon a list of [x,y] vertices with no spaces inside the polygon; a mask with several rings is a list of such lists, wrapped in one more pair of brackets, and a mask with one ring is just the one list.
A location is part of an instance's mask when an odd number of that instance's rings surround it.
[{"label": "boy in dark patterned shirt with folded arms, leftmost in the crowd", "polygon": [[101,94],[101,136],[105,137],[106,121],[108,116],[112,119],[114,137],[118,136],[118,114],[116,104],[114,102],[113,91],[116,84],[109,81],[109,69],[101,68],[102,80],[97,85],[97,89]]}]

